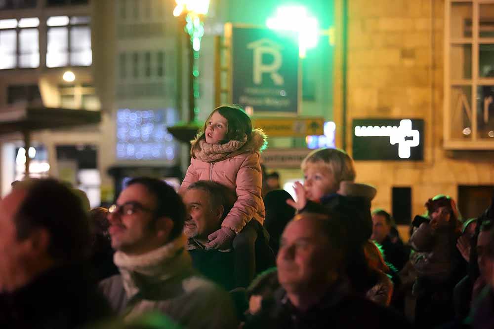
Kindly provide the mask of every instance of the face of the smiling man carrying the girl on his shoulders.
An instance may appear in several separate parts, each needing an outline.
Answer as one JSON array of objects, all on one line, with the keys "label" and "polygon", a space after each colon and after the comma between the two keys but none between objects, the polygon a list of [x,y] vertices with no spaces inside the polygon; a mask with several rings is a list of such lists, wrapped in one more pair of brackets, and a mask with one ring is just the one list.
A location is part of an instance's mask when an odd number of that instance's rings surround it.
[{"label": "face of the smiling man carrying the girl on his shoulders", "polygon": [[206,239],[209,234],[220,228],[222,211],[211,209],[206,191],[189,189],[183,197],[187,207],[184,233],[188,238]]}]

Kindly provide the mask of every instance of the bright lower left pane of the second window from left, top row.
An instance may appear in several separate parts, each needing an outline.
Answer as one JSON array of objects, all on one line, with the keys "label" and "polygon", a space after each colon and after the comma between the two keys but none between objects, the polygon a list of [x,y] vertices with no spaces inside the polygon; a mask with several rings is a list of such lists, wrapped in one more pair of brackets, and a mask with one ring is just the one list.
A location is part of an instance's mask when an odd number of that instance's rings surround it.
[{"label": "bright lower left pane of the second window from left, top row", "polygon": [[48,29],[48,47],[46,49],[46,66],[59,68],[67,66],[69,59],[69,31],[67,27]]}]

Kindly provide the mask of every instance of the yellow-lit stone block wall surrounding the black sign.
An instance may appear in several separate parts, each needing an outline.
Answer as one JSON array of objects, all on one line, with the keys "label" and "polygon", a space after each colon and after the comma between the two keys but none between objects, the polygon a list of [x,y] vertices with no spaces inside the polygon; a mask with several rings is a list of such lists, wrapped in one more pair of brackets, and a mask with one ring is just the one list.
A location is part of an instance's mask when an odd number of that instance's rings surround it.
[{"label": "yellow-lit stone block wall surrounding the black sign", "polygon": [[[493,152],[443,148],[444,0],[349,0],[347,151],[354,118],[422,118],[424,161],[357,161],[357,181],[377,187],[373,208],[391,211],[392,187],[412,187],[412,216],[458,185],[494,185]],[[461,156],[458,156],[461,154]]]}]

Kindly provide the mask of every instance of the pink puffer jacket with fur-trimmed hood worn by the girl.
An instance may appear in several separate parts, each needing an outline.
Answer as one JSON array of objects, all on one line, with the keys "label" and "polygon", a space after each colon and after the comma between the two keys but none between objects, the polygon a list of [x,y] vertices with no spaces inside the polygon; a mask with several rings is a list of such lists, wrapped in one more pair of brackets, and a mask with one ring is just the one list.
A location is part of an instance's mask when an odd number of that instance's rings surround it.
[{"label": "pink puffer jacket with fur-trimmed hood worn by the girl", "polygon": [[[237,202],[221,226],[228,227],[238,234],[251,219],[256,219],[262,224],[265,211],[261,197],[262,172],[259,152],[265,147],[266,140],[262,130],[255,129],[250,141],[226,158],[211,162],[192,158],[180,186],[180,193],[197,181],[223,184],[235,190]],[[196,142],[198,141],[195,140],[193,145]]]}]

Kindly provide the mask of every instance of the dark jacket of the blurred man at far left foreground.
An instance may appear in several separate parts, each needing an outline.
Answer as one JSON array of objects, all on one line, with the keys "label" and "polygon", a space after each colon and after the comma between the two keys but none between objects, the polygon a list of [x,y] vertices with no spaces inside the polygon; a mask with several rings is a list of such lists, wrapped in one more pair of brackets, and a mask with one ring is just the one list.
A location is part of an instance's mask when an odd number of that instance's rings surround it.
[{"label": "dark jacket of the blurred man at far left foreground", "polygon": [[14,292],[0,294],[0,328],[82,328],[111,314],[82,266],[50,269]]}]

